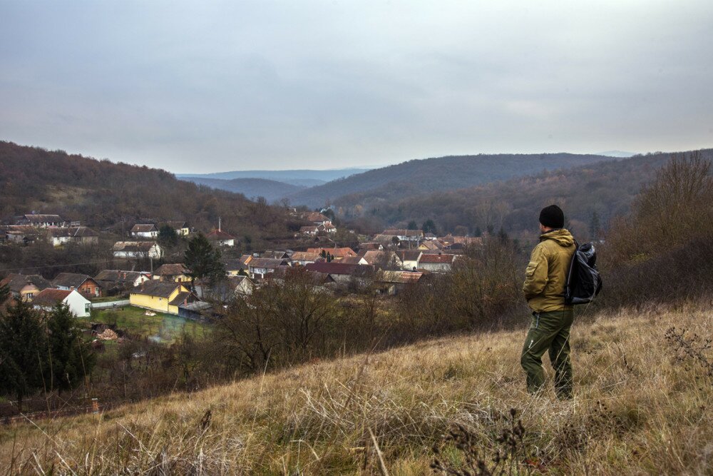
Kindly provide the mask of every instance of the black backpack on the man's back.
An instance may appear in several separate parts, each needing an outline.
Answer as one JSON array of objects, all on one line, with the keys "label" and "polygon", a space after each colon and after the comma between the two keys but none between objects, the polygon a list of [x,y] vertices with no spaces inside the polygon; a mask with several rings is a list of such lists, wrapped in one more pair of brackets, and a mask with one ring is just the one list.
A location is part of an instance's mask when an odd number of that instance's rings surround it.
[{"label": "black backpack on the man's back", "polygon": [[597,251],[592,243],[579,245],[570,261],[565,285],[565,304],[591,303],[602,290],[602,277],[597,270]]}]

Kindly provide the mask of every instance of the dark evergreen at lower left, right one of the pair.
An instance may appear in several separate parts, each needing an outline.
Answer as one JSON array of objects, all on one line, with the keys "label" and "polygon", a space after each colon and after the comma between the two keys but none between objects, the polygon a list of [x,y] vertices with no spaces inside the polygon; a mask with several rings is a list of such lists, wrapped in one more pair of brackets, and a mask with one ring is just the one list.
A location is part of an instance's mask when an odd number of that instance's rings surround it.
[{"label": "dark evergreen at lower left, right one of the pair", "polygon": [[82,338],[81,328],[67,305],[58,304],[47,320],[50,388],[71,390],[91,374],[95,356]]}]

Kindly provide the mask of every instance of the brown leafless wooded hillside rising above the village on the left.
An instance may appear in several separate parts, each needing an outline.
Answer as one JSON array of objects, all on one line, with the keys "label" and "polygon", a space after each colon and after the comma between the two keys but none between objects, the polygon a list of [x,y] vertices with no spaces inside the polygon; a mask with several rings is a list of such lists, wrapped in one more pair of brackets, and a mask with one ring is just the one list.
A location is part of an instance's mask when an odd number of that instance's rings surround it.
[{"label": "brown leafless wooded hillside rising above the village on the left", "polygon": [[106,228],[140,219],[185,220],[199,229],[217,226],[252,238],[287,233],[282,208],[242,195],[180,181],[146,166],[98,161],[63,151],[0,142],[0,217],[58,213]]}]

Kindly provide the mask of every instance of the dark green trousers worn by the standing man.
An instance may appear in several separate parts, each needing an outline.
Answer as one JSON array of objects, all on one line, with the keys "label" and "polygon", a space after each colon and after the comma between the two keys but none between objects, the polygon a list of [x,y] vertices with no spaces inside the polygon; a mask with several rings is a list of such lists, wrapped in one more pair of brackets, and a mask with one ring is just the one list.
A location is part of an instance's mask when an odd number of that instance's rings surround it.
[{"label": "dark green trousers worn by the standing man", "polygon": [[528,374],[529,393],[537,393],[545,386],[542,356],[545,351],[549,351],[550,363],[555,369],[555,392],[560,399],[572,397],[570,327],[573,318],[573,310],[533,313],[528,337],[520,356],[520,364]]}]

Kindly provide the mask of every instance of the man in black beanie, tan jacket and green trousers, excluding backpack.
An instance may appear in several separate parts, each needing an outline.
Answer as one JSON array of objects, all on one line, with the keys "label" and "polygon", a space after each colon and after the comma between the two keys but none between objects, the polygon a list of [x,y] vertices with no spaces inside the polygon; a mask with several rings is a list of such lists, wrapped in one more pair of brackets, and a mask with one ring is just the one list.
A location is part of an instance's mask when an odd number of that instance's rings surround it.
[{"label": "man in black beanie, tan jacket and green trousers, excluding backpack", "polygon": [[550,205],[540,211],[540,243],[530,255],[523,285],[533,317],[520,364],[528,374],[528,392],[537,393],[545,386],[542,356],[548,351],[555,369],[555,392],[558,398],[569,399],[572,397],[570,327],[574,313],[572,306],[565,304],[564,294],[576,247],[572,234],[564,226],[565,215],[560,207]]}]

